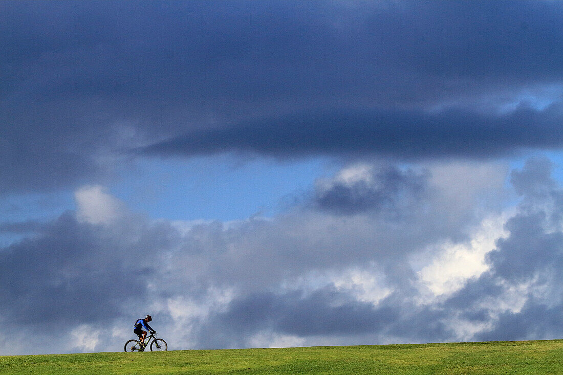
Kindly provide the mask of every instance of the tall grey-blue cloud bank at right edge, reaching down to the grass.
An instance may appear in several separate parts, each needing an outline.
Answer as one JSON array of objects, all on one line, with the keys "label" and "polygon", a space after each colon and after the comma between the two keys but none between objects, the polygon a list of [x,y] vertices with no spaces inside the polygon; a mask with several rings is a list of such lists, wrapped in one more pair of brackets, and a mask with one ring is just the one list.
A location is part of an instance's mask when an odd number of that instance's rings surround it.
[{"label": "tall grey-blue cloud bank at right edge, reaching down to the grass", "polygon": [[[532,159],[512,172],[523,199],[520,213],[506,223],[510,235],[488,254],[490,270],[444,303],[445,311],[463,311],[471,322],[494,322],[475,340],[546,339],[563,333],[557,318],[563,310],[563,190],[552,180],[551,168],[546,159]],[[510,308],[495,311],[495,303]]]}]

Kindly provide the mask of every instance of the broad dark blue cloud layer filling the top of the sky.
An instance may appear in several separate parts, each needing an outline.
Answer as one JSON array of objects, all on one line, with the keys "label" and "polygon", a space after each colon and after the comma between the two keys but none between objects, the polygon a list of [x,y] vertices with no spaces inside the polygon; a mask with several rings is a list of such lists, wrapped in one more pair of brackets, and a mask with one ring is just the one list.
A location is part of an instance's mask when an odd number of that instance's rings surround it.
[{"label": "broad dark blue cloud layer filling the top of the sky", "polygon": [[[4,2],[2,7],[2,32],[8,35],[4,63],[34,63],[62,53],[69,60],[43,63],[62,67],[66,61],[68,68],[81,68],[60,77],[85,75],[52,87],[59,94],[74,88],[110,96],[200,92],[240,99],[322,88],[342,94],[356,84],[365,91],[390,73],[392,82],[404,85],[397,92],[421,78],[545,82],[563,73],[563,57],[556,52],[563,11],[556,2]],[[81,51],[93,55],[86,60]],[[222,74],[214,77],[217,73]],[[266,77],[270,80],[263,82]]]}]

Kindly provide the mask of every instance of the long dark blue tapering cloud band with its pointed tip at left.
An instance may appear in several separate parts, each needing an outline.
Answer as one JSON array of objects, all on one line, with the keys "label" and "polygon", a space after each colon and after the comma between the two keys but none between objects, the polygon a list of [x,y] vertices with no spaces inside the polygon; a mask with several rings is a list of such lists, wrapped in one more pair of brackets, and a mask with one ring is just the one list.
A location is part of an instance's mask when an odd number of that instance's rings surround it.
[{"label": "long dark blue tapering cloud band with its pointed tip at left", "polygon": [[520,109],[506,115],[449,110],[345,111],[302,114],[199,130],[142,148],[142,154],[201,155],[241,151],[280,158],[375,154],[488,158],[531,148],[560,148],[561,109]]}]

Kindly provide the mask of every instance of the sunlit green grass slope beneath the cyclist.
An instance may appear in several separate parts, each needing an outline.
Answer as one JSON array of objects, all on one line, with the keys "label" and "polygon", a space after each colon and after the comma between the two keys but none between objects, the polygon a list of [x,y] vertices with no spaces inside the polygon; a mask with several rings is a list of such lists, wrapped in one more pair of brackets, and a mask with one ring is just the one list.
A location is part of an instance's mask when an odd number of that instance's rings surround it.
[{"label": "sunlit green grass slope beneath the cyclist", "polygon": [[0,374],[563,374],[563,340],[0,356]]}]

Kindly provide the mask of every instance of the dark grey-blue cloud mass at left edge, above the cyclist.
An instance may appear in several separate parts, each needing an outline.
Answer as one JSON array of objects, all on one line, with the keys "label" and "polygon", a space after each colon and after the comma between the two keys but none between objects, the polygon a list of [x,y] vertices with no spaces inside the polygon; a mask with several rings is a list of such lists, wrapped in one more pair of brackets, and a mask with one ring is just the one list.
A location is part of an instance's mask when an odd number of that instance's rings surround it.
[{"label": "dark grey-blue cloud mass at left edge, above the cyclist", "polygon": [[1,248],[5,328],[41,327],[56,338],[82,324],[132,320],[160,265],[154,248],[169,247],[174,234],[137,219],[135,227],[114,223],[110,229],[67,212],[43,224],[39,234]]}]

